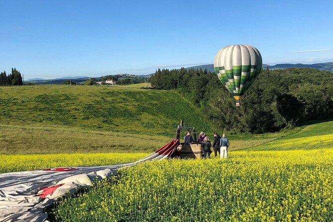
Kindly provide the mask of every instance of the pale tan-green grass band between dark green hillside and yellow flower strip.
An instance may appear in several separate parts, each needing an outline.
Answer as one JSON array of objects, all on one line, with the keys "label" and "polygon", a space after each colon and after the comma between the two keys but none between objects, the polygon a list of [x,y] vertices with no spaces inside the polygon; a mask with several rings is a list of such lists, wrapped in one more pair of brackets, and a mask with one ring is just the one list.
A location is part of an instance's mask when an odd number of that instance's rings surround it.
[{"label": "pale tan-green grass band between dark green hillside and yellow flower strip", "polygon": [[2,154],[152,152],[170,140],[163,135],[79,127],[0,125]]}]

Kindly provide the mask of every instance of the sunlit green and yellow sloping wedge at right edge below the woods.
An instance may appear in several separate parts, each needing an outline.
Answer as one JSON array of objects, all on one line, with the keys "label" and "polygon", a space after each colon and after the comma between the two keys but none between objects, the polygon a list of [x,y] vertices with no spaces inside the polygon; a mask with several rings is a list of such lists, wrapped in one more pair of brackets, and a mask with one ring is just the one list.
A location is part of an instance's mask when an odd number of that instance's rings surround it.
[{"label": "sunlit green and yellow sloping wedge at right edge below the woods", "polygon": [[310,124],[302,130],[250,150],[291,150],[333,148],[333,121]]}]

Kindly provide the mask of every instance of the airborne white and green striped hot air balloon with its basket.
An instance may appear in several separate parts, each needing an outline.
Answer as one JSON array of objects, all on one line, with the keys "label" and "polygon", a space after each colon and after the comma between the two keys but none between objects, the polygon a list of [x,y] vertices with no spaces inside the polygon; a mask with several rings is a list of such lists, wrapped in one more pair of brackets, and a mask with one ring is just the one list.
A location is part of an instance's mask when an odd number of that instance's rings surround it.
[{"label": "airborne white and green striped hot air balloon with its basket", "polygon": [[250,45],[229,45],[220,49],[214,59],[214,70],[225,88],[240,106],[240,98],[261,71],[260,52]]}]

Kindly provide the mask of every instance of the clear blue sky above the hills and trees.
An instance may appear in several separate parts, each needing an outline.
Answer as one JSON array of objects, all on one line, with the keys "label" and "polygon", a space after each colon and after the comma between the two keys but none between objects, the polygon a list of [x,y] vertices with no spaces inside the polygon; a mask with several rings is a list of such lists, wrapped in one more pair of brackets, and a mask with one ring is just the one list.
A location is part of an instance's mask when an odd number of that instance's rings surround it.
[{"label": "clear blue sky above the hills and trees", "polygon": [[333,62],[333,0],[0,0],[0,70],[149,74],[249,44],[263,63]]}]

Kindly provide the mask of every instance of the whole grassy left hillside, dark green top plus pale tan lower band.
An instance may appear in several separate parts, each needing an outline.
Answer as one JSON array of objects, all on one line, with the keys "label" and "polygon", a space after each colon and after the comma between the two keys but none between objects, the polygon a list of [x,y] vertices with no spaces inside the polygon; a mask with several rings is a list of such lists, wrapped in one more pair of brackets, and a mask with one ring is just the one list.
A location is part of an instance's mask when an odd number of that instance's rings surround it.
[{"label": "whole grassy left hillside, dark green top plus pale tan lower band", "polygon": [[0,153],[152,151],[180,119],[212,131],[172,91],[135,87],[0,87]]}]

